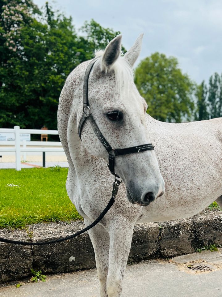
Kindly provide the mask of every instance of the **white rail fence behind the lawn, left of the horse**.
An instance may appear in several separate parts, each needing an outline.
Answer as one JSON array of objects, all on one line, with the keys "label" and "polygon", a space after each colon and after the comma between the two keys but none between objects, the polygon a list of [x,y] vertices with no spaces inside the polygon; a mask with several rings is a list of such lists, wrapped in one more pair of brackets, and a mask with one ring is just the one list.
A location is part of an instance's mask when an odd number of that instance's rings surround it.
[{"label": "white rail fence behind the lawn, left of the horse", "polygon": [[[15,147],[0,147],[0,152],[15,152],[15,168],[16,170],[21,170],[21,152],[64,152],[63,148],[27,148],[26,142],[20,141],[20,134],[27,133],[27,134],[49,134],[49,135],[58,135],[57,130],[34,130],[34,129],[20,129],[19,126],[14,126],[14,129],[4,129],[0,128],[0,133],[15,133]],[[8,141],[7,141],[8,143]],[[12,142],[10,141],[10,144]],[[20,145],[23,144],[23,147]],[[46,142],[44,142],[46,144]],[[40,142],[40,145],[43,145]]]}]

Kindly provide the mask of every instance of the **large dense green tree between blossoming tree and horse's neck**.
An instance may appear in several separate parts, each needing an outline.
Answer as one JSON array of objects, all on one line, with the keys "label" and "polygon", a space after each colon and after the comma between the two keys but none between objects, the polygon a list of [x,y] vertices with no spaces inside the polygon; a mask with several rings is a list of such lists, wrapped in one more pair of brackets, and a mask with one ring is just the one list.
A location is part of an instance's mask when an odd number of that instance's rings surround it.
[{"label": "large dense green tree between blossoming tree and horse's neck", "polygon": [[[13,18],[13,15],[17,15],[16,11],[21,11],[23,7],[25,13],[21,14],[19,30],[7,37],[4,44],[8,54],[0,93],[2,112],[5,114],[1,122],[6,127],[18,124],[21,127],[40,128],[45,124],[55,129],[59,92],[65,77],[79,63],[73,55],[77,37],[71,19],[52,15],[54,19],[49,24],[46,22],[48,15],[39,12],[37,20],[31,6],[9,4],[10,10],[6,5],[3,15],[9,16],[12,28],[18,28],[18,21]],[[48,14],[48,5],[46,8]],[[6,31],[6,27],[4,29]]]}]

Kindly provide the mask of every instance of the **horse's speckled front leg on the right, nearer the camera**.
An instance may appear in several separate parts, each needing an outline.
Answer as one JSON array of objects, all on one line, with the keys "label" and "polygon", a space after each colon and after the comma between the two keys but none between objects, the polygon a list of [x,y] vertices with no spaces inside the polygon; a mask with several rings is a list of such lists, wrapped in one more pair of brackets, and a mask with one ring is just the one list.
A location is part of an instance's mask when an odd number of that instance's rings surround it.
[{"label": "horse's speckled front leg on the right, nearer the camera", "polygon": [[110,253],[107,275],[108,297],[119,297],[123,289],[124,272],[130,252],[134,223],[125,218],[110,222]]}]

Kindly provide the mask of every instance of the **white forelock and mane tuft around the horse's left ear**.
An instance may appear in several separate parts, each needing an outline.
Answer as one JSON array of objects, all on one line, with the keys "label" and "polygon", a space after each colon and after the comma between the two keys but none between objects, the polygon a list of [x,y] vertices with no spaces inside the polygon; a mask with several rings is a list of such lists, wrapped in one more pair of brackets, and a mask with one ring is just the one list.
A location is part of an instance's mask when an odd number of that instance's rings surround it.
[{"label": "white forelock and mane tuft around the horse's left ear", "polygon": [[[103,53],[103,50],[96,50],[95,57],[101,57]],[[114,71],[117,92],[122,98],[128,98],[130,85],[132,85],[134,77],[132,67],[127,60],[119,56],[119,58],[111,67],[110,71]]]}]

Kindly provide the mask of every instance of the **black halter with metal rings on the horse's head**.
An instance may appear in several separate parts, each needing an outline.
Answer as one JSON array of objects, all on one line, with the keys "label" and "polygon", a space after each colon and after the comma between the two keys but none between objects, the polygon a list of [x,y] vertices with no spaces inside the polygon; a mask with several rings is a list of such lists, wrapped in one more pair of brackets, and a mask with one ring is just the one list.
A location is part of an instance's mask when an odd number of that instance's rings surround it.
[{"label": "black halter with metal rings on the horse's head", "polygon": [[109,153],[109,169],[112,174],[118,177],[118,175],[115,173],[114,166],[115,166],[115,156],[120,156],[120,155],[127,155],[127,154],[132,154],[132,153],[140,153],[144,152],[147,150],[154,149],[152,143],[148,144],[142,144],[142,145],[137,145],[137,146],[132,146],[130,148],[125,148],[125,149],[113,149],[111,145],[108,143],[106,138],[103,136],[101,131],[99,130],[92,114],[90,113],[90,107],[89,107],[89,101],[88,101],[88,82],[89,82],[89,75],[90,71],[93,68],[94,63],[98,60],[98,58],[93,59],[88,67],[86,68],[85,72],[85,77],[84,77],[84,83],[83,83],[83,108],[82,108],[82,118],[80,119],[79,126],[78,126],[78,133],[79,137],[81,139],[81,132],[83,125],[86,121],[86,119],[89,119],[90,124],[95,132],[95,135],[98,137],[100,142],[103,144],[104,148],[107,150]]}]

